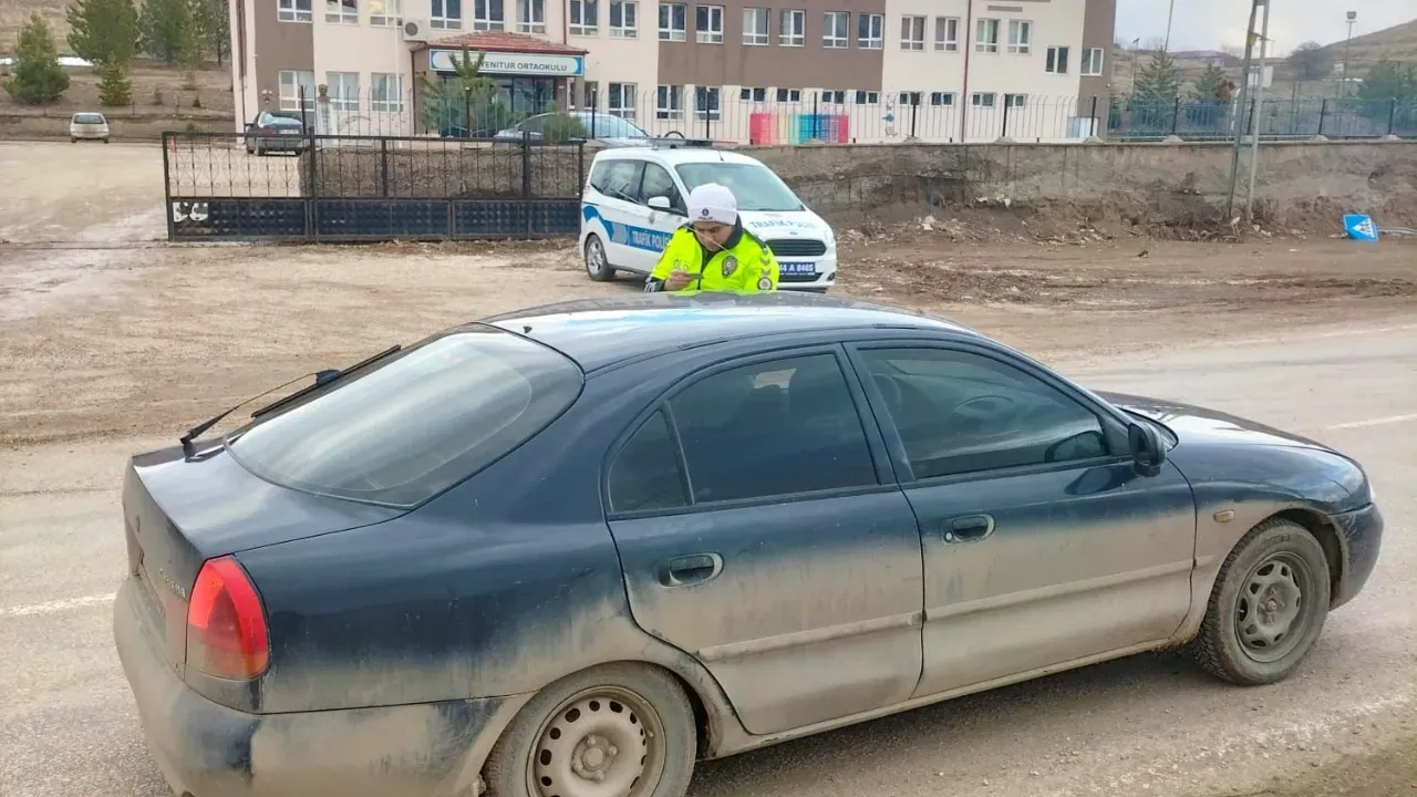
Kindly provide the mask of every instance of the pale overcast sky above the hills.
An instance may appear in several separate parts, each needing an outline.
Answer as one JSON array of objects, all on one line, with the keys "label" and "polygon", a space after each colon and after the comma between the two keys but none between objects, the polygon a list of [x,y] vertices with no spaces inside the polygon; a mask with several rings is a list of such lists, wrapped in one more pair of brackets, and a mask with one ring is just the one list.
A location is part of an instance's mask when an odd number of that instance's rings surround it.
[{"label": "pale overcast sky above the hills", "polygon": [[[1272,0],[1270,41],[1281,52],[1314,40],[1342,40],[1348,33],[1345,11],[1357,11],[1353,35],[1373,33],[1417,17],[1413,0]],[[1166,35],[1169,0],[1117,0],[1117,38],[1131,44]],[[1261,13],[1264,10],[1261,9]],[[1170,30],[1172,50],[1216,50],[1244,45],[1250,3],[1243,0],[1176,0]],[[1255,30],[1260,28],[1258,20]]]}]

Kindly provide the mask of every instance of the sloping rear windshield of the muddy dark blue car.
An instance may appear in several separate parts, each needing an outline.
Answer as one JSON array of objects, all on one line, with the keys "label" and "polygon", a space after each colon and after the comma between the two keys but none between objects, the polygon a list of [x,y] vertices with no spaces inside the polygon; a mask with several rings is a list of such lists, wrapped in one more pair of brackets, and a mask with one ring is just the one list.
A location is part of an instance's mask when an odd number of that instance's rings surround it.
[{"label": "sloping rear windshield of the muddy dark blue car", "polygon": [[293,489],[412,506],[555,420],[584,374],[493,328],[441,335],[227,438],[252,474]]}]

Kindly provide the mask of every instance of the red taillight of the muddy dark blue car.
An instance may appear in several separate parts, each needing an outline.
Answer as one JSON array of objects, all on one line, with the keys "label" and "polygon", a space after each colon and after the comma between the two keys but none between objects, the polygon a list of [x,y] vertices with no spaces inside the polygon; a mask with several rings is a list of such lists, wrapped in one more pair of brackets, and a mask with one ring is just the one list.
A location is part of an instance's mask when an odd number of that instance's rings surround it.
[{"label": "red taillight of the muddy dark blue car", "polygon": [[265,608],[247,572],[230,556],[207,560],[187,606],[187,667],[247,679],[269,661]]}]

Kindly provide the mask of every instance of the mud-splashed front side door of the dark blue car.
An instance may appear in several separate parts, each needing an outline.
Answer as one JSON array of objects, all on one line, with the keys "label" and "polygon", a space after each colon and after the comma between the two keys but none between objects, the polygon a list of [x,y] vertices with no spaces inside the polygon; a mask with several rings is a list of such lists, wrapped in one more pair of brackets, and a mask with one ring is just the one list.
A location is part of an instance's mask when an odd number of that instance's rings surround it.
[{"label": "mud-splashed front side door of the dark blue car", "polygon": [[1144,476],[1125,424],[1043,369],[969,345],[852,356],[920,520],[917,696],[1169,638],[1190,606],[1195,499]]}]

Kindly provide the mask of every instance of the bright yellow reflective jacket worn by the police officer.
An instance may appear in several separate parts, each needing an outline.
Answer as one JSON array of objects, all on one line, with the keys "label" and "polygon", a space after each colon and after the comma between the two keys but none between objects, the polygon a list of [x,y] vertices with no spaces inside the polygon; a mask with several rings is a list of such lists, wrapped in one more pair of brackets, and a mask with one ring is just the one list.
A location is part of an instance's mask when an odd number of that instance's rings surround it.
[{"label": "bright yellow reflective jacket worn by the police officer", "polygon": [[683,225],[674,230],[665,247],[665,254],[659,255],[655,271],[649,274],[646,289],[663,284],[669,274],[682,268],[690,275],[697,275],[683,291],[740,291],[755,294],[758,291],[778,289],[778,260],[757,235],[738,228],[728,245],[723,251],[708,255],[707,262],[703,244],[694,235],[693,227]]}]

